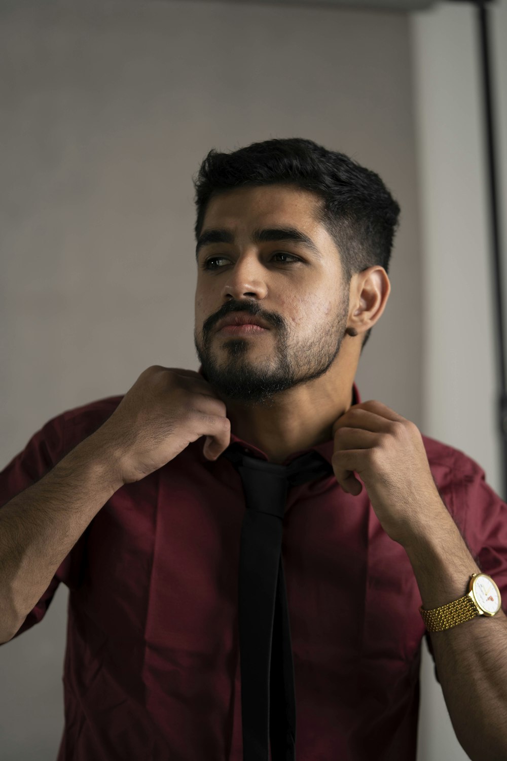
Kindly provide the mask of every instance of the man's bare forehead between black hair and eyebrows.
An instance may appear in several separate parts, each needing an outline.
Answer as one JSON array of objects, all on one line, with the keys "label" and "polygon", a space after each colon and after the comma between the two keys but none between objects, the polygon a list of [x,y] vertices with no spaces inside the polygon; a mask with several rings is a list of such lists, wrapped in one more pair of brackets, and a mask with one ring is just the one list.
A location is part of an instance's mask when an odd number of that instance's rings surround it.
[{"label": "man's bare forehead between black hair and eyebrows", "polygon": [[315,219],[319,201],[315,193],[294,186],[235,188],[210,199],[202,227],[238,230],[260,224],[290,224],[316,233],[321,228]]}]

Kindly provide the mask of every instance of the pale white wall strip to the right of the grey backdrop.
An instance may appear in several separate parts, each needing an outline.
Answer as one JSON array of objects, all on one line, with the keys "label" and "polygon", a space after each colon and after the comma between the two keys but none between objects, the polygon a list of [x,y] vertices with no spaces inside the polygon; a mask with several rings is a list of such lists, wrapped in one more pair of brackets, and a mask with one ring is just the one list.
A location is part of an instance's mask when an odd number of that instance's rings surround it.
[{"label": "pale white wall strip to the right of the grey backdrop", "polygon": [[[486,5],[496,75],[500,214],[507,241],[507,2]],[[505,499],[505,463],[496,433],[498,380],[477,10],[467,2],[442,3],[414,14],[410,27],[422,231],[424,428],[474,457],[487,482]],[[505,248],[503,254],[505,266]],[[427,652],[419,754],[420,761],[468,757],[450,727]]]}]

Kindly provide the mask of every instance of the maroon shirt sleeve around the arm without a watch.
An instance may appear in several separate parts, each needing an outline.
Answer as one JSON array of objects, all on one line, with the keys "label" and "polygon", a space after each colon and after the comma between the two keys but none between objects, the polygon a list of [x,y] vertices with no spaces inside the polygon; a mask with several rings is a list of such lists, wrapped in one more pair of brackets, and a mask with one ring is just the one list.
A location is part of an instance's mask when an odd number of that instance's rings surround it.
[{"label": "maroon shirt sleeve around the arm without a watch", "polygon": [[[24,450],[13,457],[0,473],[0,512],[8,501],[49,473],[49,470],[52,470],[52,467],[65,456],[65,447],[65,417],[61,415],[49,420],[43,428],[36,431]],[[22,634],[43,619],[61,581],[71,586],[79,564],[80,549],[78,545],[74,545],[56,570],[49,587],[33,610],[28,613],[15,636]]]}]

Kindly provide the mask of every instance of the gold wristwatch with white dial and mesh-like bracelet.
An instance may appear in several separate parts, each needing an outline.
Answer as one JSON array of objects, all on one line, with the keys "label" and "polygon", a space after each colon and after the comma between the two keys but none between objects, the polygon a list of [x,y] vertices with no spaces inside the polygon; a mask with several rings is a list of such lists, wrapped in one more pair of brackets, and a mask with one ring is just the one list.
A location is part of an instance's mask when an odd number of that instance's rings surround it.
[{"label": "gold wristwatch with white dial and mesh-like bracelet", "polygon": [[419,610],[429,632],[443,632],[475,616],[494,616],[500,607],[502,598],[493,579],[485,573],[474,573],[464,597],[433,610],[424,610],[423,607]]}]

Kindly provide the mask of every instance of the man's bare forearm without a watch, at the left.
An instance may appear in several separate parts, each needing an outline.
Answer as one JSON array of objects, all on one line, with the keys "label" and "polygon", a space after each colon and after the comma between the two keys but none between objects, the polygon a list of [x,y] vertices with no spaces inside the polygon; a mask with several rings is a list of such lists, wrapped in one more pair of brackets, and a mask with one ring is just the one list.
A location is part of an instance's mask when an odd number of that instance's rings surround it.
[{"label": "man's bare forearm without a watch, at the left", "polygon": [[0,642],[14,636],[92,518],[122,486],[100,434],[0,508]]}]

